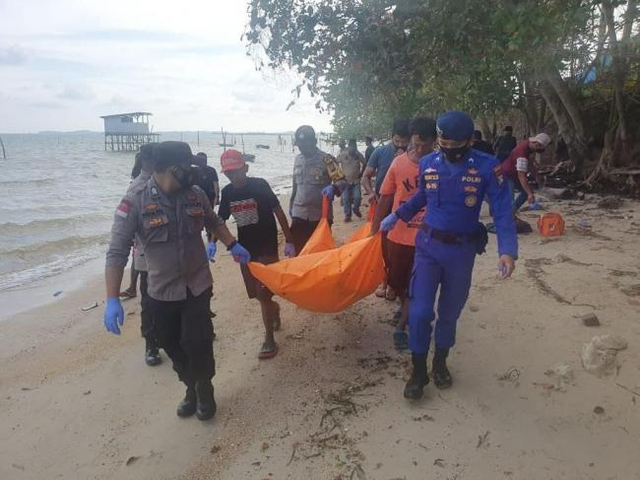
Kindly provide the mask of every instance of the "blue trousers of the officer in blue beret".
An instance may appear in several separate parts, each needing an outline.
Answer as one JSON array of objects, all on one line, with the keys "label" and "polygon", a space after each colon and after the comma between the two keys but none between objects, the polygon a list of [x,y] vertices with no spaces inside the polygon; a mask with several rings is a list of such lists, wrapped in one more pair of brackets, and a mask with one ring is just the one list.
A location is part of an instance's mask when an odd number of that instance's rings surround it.
[{"label": "blue trousers of the officer in blue beret", "polygon": [[471,242],[449,245],[422,230],[418,232],[409,286],[409,348],[412,353],[426,355],[429,351],[438,287],[435,344],[443,349],[455,345],[456,324],[469,296],[475,258],[476,247]]}]

